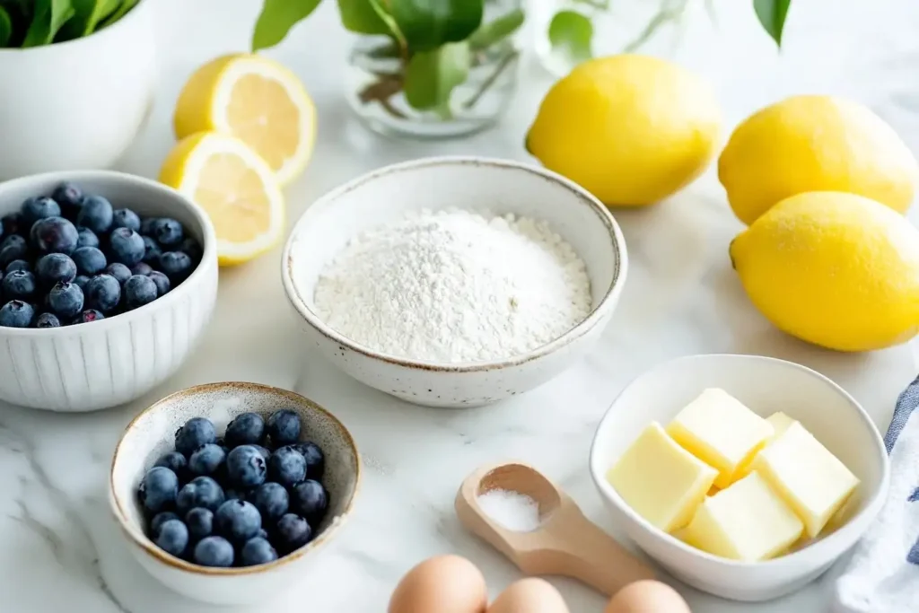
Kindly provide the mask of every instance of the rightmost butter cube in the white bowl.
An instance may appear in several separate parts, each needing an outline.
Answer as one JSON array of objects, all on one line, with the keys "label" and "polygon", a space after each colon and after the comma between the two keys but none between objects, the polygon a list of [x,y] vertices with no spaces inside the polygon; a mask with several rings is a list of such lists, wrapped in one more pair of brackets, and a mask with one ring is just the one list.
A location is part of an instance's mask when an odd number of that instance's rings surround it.
[{"label": "rightmost butter cube in the white bowl", "polygon": [[756,456],[753,468],[804,521],[811,538],[858,485],[845,464],[798,422]]}]

